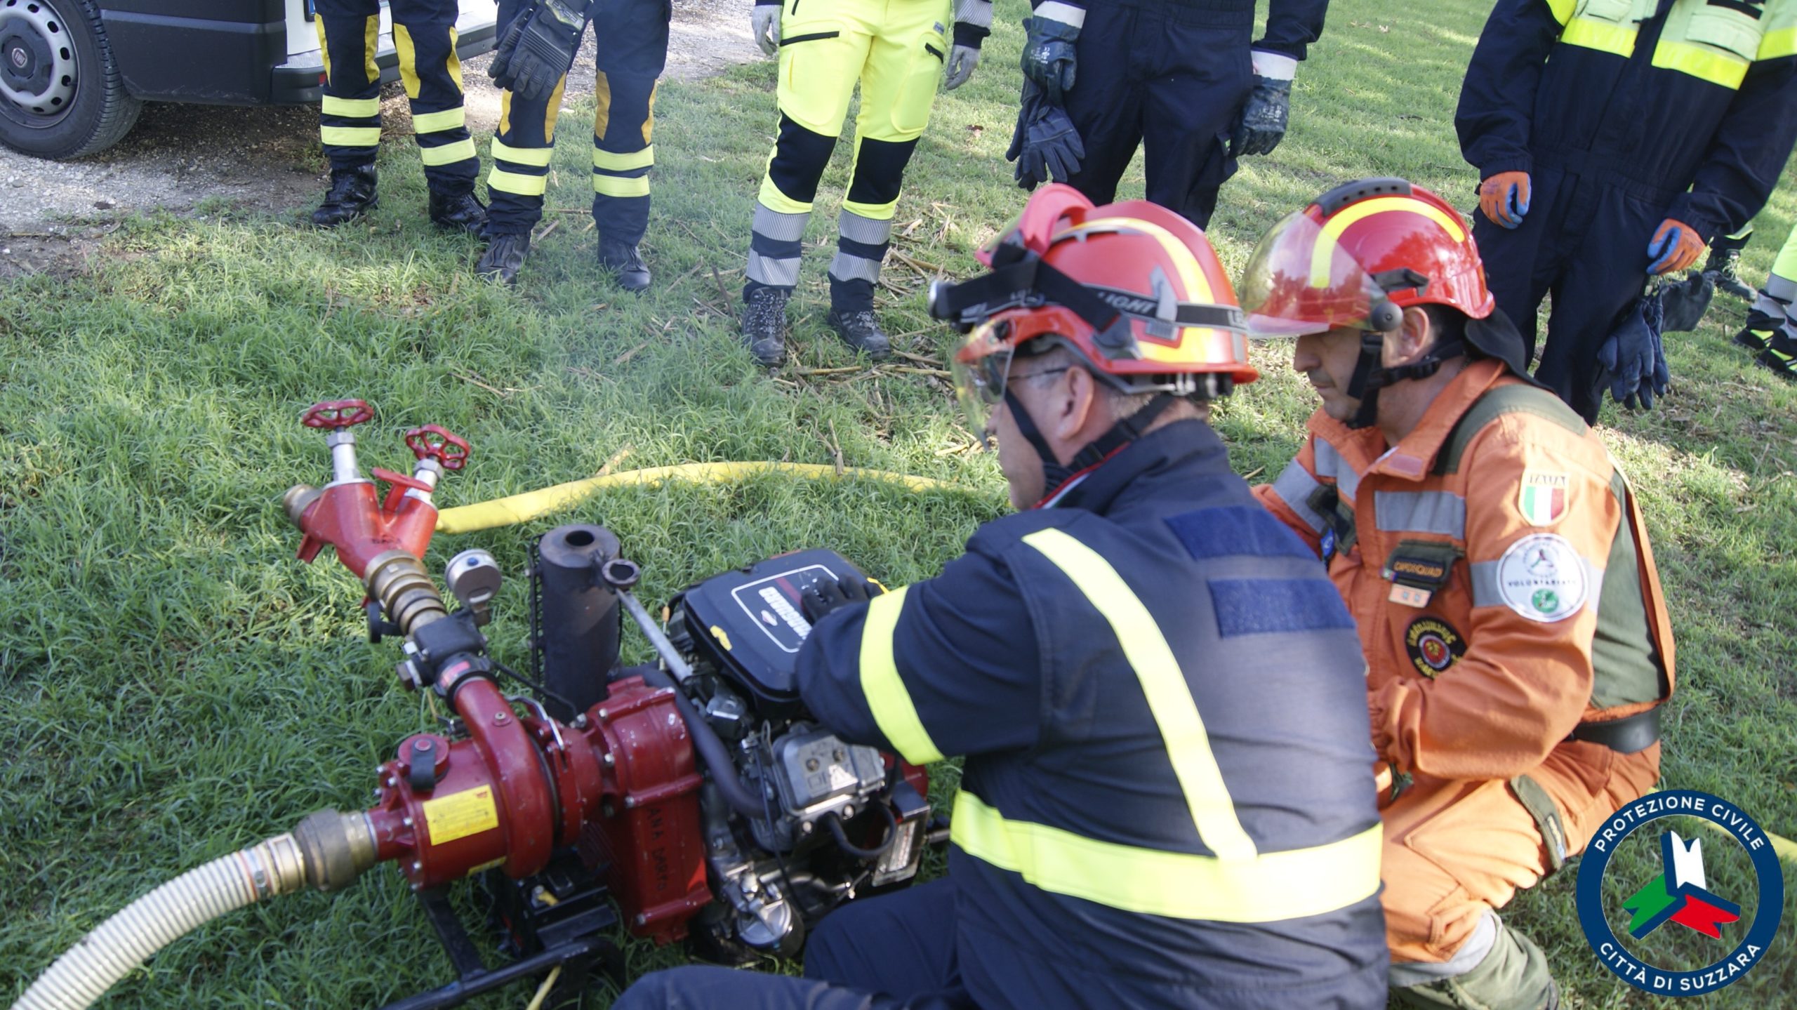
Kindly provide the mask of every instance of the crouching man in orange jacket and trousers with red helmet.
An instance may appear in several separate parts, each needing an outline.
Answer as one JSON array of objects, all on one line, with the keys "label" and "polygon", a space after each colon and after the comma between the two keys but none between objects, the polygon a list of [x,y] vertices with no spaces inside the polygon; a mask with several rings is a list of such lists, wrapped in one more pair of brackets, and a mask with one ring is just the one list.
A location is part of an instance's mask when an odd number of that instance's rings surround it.
[{"label": "crouching man in orange jacket and trousers with red helmet", "polygon": [[1403,180],[1333,189],[1261,239],[1260,336],[1323,397],[1261,503],[1324,559],[1387,764],[1403,1006],[1556,1006],[1495,909],[1659,776],[1673,640],[1628,482],[1526,372],[1465,219]]}]

